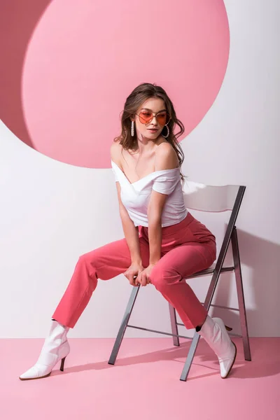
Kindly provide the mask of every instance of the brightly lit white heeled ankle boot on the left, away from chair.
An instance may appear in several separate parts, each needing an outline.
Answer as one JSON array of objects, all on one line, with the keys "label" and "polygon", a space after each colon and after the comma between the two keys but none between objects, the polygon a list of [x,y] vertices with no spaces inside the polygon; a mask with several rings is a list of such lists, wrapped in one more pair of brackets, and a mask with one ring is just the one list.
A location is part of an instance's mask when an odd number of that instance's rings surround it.
[{"label": "brightly lit white heeled ankle boot on the left, away from chair", "polygon": [[69,342],[66,338],[68,331],[68,327],[64,327],[57,321],[52,321],[50,334],[45,339],[36,364],[20,375],[22,381],[50,376],[50,372],[52,372],[59,360],[62,361],[60,370],[64,370],[64,360],[70,351]]}]

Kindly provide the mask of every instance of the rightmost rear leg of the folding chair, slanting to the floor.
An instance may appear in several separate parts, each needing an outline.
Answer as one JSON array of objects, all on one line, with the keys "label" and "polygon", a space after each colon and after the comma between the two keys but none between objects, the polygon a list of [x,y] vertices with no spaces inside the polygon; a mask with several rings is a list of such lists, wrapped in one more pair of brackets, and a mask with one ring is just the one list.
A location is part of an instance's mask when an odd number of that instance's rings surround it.
[{"label": "rightmost rear leg of the folding chair, slanting to the floor", "polygon": [[237,285],[237,297],[238,297],[238,306],[239,306],[239,313],[240,313],[241,335],[242,335],[243,347],[244,347],[244,358],[245,360],[252,360],[250,342],[249,342],[249,337],[248,337],[248,325],[247,325],[247,317],[246,317],[246,309],[245,309],[245,301],[244,301],[244,289],[243,289],[243,282],[242,282],[239,246],[238,246],[236,228],[234,228],[232,231],[232,255],[233,255],[233,261],[235,264],[235,280],[236,280],[236,285]]}]

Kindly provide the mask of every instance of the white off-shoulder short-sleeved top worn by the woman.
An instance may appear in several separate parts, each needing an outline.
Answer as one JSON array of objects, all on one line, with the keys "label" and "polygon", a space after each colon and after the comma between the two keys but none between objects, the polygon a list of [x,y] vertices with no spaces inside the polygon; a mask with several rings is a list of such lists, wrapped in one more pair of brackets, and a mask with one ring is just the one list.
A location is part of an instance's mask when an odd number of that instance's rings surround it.
[{"label": "white off-shoulder short-sleeved top worn by the woman", "polygon": [[155,171],[131,183],[113,160],[111,165],[115,181],[120,183],[120,198],[135,226],[148,227],[148,202],[152,190],[168,195],[162,210],[162,228],[175,225],[187,216],[179,167]]}]

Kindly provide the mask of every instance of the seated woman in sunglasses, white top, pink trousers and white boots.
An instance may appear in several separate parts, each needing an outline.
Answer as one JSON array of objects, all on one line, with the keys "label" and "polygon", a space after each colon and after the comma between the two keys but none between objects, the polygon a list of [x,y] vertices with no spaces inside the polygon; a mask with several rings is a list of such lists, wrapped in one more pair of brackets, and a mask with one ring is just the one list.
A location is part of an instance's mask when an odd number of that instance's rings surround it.
[{"label": "seated woman in sunglasses, white top, pink trousers and white boots", "polygon": [[[165,90],[142,83],[127,97],[122,132],[111,146],[120,218],[125,237],[81,255],[69,286],[52,316],[36,364],[20,379],[48,377],[69,354],[66,334],[87,306],[98,279],[125,274],[132,286],[153,284],[218,356],[221,377],[230,373],[237,349],[221,318],[211,318],[184,281],[216,259],[214,235],[183,202],[180,167],[184,132]],[[174,134],[174,126],[180,127]],[[184,181],[184,180],[183,180]]]}]

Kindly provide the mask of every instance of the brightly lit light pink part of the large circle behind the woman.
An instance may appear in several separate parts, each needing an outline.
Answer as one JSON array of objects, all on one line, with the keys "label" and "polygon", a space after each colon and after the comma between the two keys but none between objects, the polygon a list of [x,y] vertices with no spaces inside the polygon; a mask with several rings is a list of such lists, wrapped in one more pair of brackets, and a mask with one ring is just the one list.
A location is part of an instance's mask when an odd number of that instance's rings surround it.
[{"label": "brightly lit light pink part of the large circle behind the woman", "polygon": [[229,48],[222,0],[54,0],[22,62],[20,139],[70,165],[109,167],[125,99],[143,82],[167,91],[186,136],[221,88]]}]

